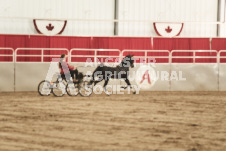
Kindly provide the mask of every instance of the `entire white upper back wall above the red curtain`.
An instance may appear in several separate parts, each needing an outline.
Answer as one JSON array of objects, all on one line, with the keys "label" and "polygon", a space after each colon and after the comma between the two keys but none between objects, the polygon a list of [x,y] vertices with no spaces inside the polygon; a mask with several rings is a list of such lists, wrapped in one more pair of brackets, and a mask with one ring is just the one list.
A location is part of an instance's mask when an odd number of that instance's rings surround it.
[{"label": "entire white upper back wall above the red curtain", "polygon": [[[218,0],[118,0],[117,6],[124,20],[118,36],[157,36],[153,21],[185,22],[181,37],[217,36],[217,24],[208,22],[218,21]],[[48,18],[69,19],[62,35],[113,36],[114,11],[115,0],[0,0],[0,34],[37,34],[32,19]]]}]

